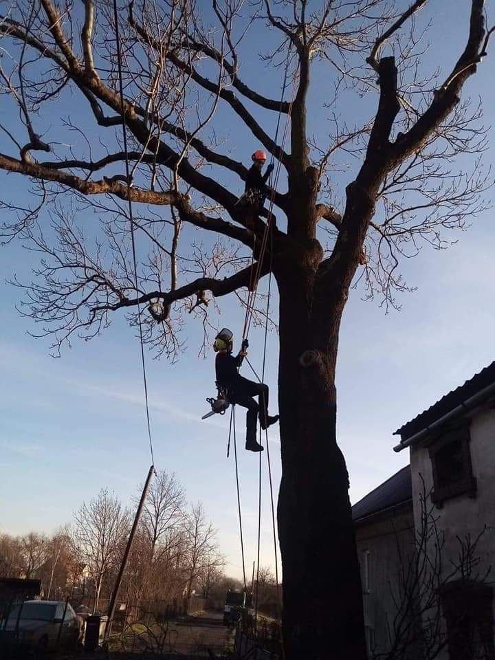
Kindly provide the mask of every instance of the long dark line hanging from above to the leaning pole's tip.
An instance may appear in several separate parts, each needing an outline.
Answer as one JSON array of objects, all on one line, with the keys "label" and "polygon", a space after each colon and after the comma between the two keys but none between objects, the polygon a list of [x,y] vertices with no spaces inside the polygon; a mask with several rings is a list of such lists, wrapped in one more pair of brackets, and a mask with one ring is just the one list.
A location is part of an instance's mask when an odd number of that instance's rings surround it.
[{"label": "long dark line hanging from above to the leaning pole's tip", "polygon": [[[131,200],[131,168],[129,167],[129,151],[127,148],[127,124],[126,124],[125,108],[124,108],[124,83],[122,80],[122,52],[120,50],[120,33],[118,27],[117,0],[113,0],[113,18],[115,20],[115,46],[117,49],[117,67],[118,67],[118,81],[119,81],[119,92],[120,92],[120,115],[122,117],[122,138],[124,142],[125,169],[126,169],[126,181],[127,181],[127,202],[129,208],[129,220],[131,221],[131,245],[132,245],[132,256],[133,256],[133,267],[134,267],[134,287],[135,287],[136,296],[138,296],[139,289],[137,288],[137,258],[136,258],[136,247],[135,247],[135,236],[134,236],[133,207]],[[151,454],[151,464],[155,465],[155,457],[153,456],[153,440],[151,439],[151,423],[150,423],[149,403],[148,403],[148,382],[146,379],[146,362],[144,360],[141,304],[139,302],[137,303],[137,320],[139,325],[139,338],[141,344],[141,364],[142,364],[142,375],[143,375],[143,384],[144,384],[144,404],[146,406],[146,424],[148,427],[148,440],[149,440],[149,448]]]}]

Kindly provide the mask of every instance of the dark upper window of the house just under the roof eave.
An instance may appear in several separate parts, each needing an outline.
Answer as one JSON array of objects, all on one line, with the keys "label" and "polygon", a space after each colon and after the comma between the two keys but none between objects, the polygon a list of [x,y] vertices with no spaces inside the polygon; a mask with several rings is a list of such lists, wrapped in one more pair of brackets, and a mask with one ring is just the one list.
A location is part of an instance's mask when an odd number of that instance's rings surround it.
[{"label": "dark upper window of the house just under the roof eave", "polygon": [[448,431],[430,445],[434,485],[432,502],[439,508],[451,497],[476,495],[470,439],[469,427],[463,426]]}]

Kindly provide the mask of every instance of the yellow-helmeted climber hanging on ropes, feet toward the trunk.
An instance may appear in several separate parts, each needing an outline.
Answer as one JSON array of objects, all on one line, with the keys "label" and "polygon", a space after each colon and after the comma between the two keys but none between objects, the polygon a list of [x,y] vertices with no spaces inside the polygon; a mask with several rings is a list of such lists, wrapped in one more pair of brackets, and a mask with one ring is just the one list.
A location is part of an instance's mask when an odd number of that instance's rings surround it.
[{"label": "yellow-helmeted climber hanging on ropes, feet toward the trunk", "polygon": [[[262,452],[263,446],[256,441],[256,417],[259,417],[263,430],[278,421],[278,415],[268,415],[268,386],[264,383],[254,383],[239,375],[239,367],[248,352],[245,347],[234,356],[232,355],[232,332],[223,328],[216,336],[213,348],[217,353],[215,371],[217,386],[227,391],[232,404],[248,408],[246,415],[246,444],[250,452]],[[259,403],[252,397],[258,397]]]}]

